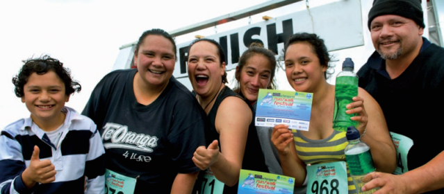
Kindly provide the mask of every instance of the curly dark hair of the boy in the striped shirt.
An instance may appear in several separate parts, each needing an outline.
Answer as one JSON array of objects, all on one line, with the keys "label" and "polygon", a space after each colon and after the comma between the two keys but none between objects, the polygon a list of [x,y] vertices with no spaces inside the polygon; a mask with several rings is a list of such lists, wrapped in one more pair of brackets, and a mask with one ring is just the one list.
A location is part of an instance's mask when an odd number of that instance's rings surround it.
[{"label": "curly dark hair of the boy in the striped shirt", "polygon": [[32,73],[37,73],[38,75],[43,75],[48,71],[54,71],[58,78],[65,83],[65,94],[71,95],[75,91],[80,92],[82,87],[79,82],[72,80],[71,71],[63,67],[63,63],[49,57],[49,55],[44,55],[40,58],[29,58],[28,60],[23,60],[24,65],[20,69],[19,74],[13,78],[13,84],[15,85],[15,96],[21,98],[24,96],[23,87],[28,82],[29,76]]}]

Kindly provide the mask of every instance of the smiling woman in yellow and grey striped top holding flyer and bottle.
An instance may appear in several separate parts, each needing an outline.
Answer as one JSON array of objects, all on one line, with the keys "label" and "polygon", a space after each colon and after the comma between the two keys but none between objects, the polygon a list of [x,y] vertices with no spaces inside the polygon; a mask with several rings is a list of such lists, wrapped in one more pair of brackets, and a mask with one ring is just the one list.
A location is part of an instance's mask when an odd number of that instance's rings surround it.
[{"label": "smiling woman in yellow and grey striped top holding flyer and bottle", "polygon": [[[291,131],[288,125],[276,125],[272,142],[279,152],[283,174],[295,177],[295,185],[302,186],[307,177],[306,165],[345,161],[347,139],[345,132],[332,128],[335,87],[327,82],[331,58],[324,41],[315,34],[297,33],[284,47],[288,82],[295,91],[313,93],[313,103],[309,131]],[[365,132],[361,140],[370,145],[376,169],[393,173],[396,151],[381,108],[362,88],[353,100],[354,103],[347,105],[346,113],[358,114],[352,120],[360,122],[358,130],[361,135]],[[350,175],[348,181],[349,193],[354,193]]]}]

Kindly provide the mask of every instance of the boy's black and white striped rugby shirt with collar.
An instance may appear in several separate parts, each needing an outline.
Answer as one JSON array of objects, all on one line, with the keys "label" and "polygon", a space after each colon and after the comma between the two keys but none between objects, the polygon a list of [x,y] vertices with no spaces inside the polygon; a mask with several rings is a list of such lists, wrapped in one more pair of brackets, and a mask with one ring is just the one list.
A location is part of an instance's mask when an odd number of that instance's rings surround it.
[{"label": "boy's black and white striped rugby shirt with collar", "polygon": [[[64,107],[65,123],[58,145],[49,140],[32,118],[8,125],[0,136],[0,193],[104,193],[104,145],[94,122],[74,109]],[[40,160],[49,159],[56,168],[56,180],[49,184],[24,186],[22,172],[29,166],[34,145]]]}]

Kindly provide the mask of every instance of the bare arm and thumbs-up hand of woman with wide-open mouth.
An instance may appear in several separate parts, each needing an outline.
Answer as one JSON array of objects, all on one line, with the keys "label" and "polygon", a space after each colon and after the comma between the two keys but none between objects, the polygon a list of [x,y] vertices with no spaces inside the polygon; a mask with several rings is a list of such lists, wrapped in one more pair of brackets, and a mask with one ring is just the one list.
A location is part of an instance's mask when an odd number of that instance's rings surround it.
[{"label": "bare arm and thumbs-up hand of woman with wide-open mouth", "polygon": [[225,98],[217,109],[215,121],[222,152],[219,152],[217,141],[213,141],[207,149],[203,146],[197,148],[192,161],[202,170],[209,167],[220,182],[235,185],[239,180],[251,122],[252,111],[242,99]]}]

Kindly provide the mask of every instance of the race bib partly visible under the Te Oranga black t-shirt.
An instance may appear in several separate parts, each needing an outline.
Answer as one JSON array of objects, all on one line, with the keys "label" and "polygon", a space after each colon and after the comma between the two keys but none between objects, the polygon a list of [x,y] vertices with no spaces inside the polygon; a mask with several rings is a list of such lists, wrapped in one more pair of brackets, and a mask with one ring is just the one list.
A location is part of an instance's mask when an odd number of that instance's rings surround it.
[{"label": "race bib partly visible under the Te Oranga black t-shirt", "polygon": [[105,170],[105,194],[133,194],[136,180],[115,173],[112,170]]}]

